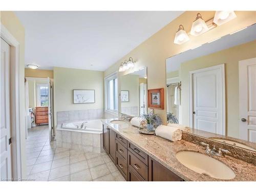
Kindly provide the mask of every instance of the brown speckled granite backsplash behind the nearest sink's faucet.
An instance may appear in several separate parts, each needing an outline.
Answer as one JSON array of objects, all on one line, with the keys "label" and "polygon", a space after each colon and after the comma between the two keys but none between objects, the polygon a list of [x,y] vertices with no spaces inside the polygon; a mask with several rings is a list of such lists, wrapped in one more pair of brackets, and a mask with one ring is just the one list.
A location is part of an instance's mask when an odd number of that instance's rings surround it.
[{"label": "brown speckled granite backsplash behind the nearest sink's faucet", "polygon": [[209,144],[210,148],[212,148],[215,145],[215,148],[218,150],[219,148],[223,148],[225,150],[228,150],[231,154],[229,156],[232,156],[237,159],[241,159],[243,161],[246,161],[248,163],[252,163],[253,165],[256,165],[256,152],[246,150],[244,148],[232,146],[229,144],[225,144],[219,141],[207,139],[198,135],[189,134],[186,132],[182,132],[182,139],[191,143],[195,143],[200,145],[201,142]]}]

